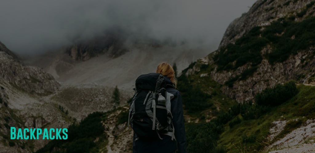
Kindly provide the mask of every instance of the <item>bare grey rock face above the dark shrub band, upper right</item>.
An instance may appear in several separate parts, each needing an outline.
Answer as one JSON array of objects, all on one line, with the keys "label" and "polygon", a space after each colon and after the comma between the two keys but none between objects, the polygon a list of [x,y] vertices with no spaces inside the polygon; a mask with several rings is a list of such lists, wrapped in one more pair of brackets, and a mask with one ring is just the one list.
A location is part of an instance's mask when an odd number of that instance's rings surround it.
[{"label": "bare grey rock face above the dark shrub band, upper right", "polygon": [[[223,35],[219,49],[229,43],[234,43],[243,34],[248,33],[255,26],[270,25],[272,21],[287,15],[296,15],[305,8],[312,0],[258,0],[249,9],[243,13],[240,18],[236,18],[226,29]],[[314,9],[309,9],[303,17],[313,15]],[[303,20],[296,18],[296,21]]]}]

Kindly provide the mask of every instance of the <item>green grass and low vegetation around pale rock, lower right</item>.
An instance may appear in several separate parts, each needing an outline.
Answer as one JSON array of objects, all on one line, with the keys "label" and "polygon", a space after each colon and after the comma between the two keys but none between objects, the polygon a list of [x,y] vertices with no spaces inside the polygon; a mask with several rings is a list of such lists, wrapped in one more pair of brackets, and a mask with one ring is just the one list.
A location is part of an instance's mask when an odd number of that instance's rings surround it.
[{"label": "green grass and low vegetation around pale rock, lower right", "polygon": [[[218,146],[226,147],[228,152],[239,152],[240,148],[243,148],[244,151],[245,145],[246,152],[261,151],[266,145],[283,138],[292,130],[300,127],[307,119],[314,119],[315,104],[313,102],[315,95],[312,93],[315,92],[315,87],[299,85],[297,89],[299,92],[295,96],[291,96],[289,100],[278,106],[266,107],[248,103],[232,107],[231,112],[233,113],[231,115],[238,113],[237,110],[241,112],[234,118],[230,117],[228,124],[224,124],[224,131],[217,141]],[[246,112],[249,114],[246,115]],[[250,112],[257,115],[250,117],[253,116],[250,115]],[[230,127],[229,124],[237,117],[241,119],[241,122]],[[266,142],[265,138],[269,135],[272,122],[279,119],[288,120],[284,130],[272,142]]]}]

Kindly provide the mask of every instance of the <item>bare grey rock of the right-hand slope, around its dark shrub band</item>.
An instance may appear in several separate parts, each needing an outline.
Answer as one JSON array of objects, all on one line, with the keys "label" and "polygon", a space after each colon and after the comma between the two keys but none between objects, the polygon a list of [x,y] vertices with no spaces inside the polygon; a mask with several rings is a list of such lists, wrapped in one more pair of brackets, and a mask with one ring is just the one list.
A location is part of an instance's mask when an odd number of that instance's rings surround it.
[{"label": "bare grey rock of the right-hand slope, around its dark shrub band", "polygon": [[[220,84],[225,84],[228,80],[240,76],[245,70],[252,67],[251,63],[247,63],[236,69],[217,71],[218,66],[215,63],[215,55],[220,52],[221,48],[230,43],[234,44],[236,40],[247,34],[252,28],[261,26],[264,29],[264,26],[270,25],[279,18],[289,18],[292,16],[295,17],[294,20],[296,22],[300,22],[314,16],[315,5],[312,2],[311,0],[288,2],[285,0],[258,0],[248,13],[244,13],[229,25],[219,49],[207,57],[199,59],[192,69],[187,70],[186,75],[200,71],[200,65],[209,64],[213,67],[213,70],[208,71],[208,75]],[[297,15],[305,10],[304,15]],[[313,84],[315,82],[314,49],[314,46],[311,46],[305,50],[298,50],[297,54],[290,55],[287,60],[270,64],[265,55],[272,51],[272,48],[270,45],[267,45],[261,50],[263,59],[257,65],[255,72],[246,79],[235,81],[232,87],[228,85],[222,86],[221,91],[230,98],[234,98],[239,103],[242,103],[253,100],[255,94],[261,92],[266,87],[272,87],[275,84],[285,83],[289,80],[296,80],[298,83]]]}]

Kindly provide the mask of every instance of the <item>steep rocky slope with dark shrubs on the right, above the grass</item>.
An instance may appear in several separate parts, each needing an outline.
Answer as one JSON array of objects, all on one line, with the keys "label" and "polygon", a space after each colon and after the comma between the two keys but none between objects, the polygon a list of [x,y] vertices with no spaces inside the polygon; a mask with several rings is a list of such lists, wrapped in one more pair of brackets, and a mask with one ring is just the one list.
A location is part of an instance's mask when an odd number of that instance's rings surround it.
[{"label": "steep rocky slope with dark shrubs on the right, above the grass", "polygon": [[223,86],[239,103],[277,83],[314,83],[314,10],[312,0],[258,0],[227,28],[220,47],[197,61],[200,71]]}]

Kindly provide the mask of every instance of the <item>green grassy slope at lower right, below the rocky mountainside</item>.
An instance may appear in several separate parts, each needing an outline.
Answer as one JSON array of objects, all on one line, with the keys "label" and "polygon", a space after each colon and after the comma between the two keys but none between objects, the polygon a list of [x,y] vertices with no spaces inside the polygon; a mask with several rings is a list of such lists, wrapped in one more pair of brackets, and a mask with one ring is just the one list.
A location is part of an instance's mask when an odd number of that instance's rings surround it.
[{"label": "green grassy slope at lower right, below the rocky mountainside", "polygon": [[[275,138],[275,140],[279,140],[285,134],[298,128],[307,119],[314,119],[315,94],[313,93],[315,93],[315,87],[299,85],[298,89],[299,93],[295,97],[280,106],[271,108],[268,113],[262,115],[259,119],[242,120],[240,124],[233,128],[226,124],[224,132],[218,140],[218,145],[225,146],[229,152],[241,152],[241,148],[243,151],[245,149],[246,152],[259,151],[264,146],[272,143],[266,142],[265,138],[269,134],[273,121],[298,119],[297,122],[287,123],[285,130]],[[248,139],[247,142],[245,141],[246,144],[243,141],[245,135]],[[250,138],[253,139],[250,140]]]}]

